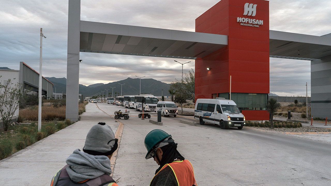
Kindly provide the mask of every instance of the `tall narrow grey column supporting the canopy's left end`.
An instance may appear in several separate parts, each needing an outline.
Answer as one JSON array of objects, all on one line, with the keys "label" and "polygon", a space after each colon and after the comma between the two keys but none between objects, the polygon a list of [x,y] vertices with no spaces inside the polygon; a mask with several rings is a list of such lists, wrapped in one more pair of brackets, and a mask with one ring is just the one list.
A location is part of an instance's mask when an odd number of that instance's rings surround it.
[{"label": "tall narrow grey column supporting the canopy's left end", "polygon": [[80,0],[69,0],[66,118],[78,120]]}]

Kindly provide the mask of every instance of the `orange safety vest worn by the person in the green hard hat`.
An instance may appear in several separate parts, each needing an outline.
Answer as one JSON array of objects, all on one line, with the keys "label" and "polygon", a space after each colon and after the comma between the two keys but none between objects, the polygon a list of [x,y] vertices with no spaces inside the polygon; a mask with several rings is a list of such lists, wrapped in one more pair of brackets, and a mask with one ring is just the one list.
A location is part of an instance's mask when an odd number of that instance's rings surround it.
[{"label": "orange safety vest worn by the person in the green hard hat", "polygon": [[[169,166],[173,171],[173,174],[176,177],[178,186],[197,186],[197,182],[195,181],[193,166],[190,161],[182,160],[182,161],[175,161],[172,163],[165,164],[161,170],[155,174],[158,175],[164,168]],[[154,177],[155,177],[154,176]],[[153,179],[154,179],[153,177]],[[152,179],[152,181],[153,181]],[[151,182],[152,183],[152,182]]]}]

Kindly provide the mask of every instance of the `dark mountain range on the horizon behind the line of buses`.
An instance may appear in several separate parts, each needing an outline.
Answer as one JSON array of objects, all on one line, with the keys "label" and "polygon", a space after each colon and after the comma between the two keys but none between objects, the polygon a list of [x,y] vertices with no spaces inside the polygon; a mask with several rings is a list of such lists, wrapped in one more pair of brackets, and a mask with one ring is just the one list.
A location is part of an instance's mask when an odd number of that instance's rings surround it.
[{"label": "dark mountain range on the horizon behind the line of buses", "polygon": [[[67,79],[65,77],[62,78],[56,78],[56,77],[46,77],[49,81],[51,81],[54,84],[53,91],[56,93],[66,93],[66,86],[67,86]],[[82,94],[83,96],[92,96],[94,94],[97,94],[101,91],[105,91],[104,95],[106,95],[107,91],[105,89],[109,89],[108,93],[112,93],[112,88],[114,88],[114,94],[121,93],[121,85],[122,85],[122,95],[137,95],[139,94],[139,78],[130,78],[115,81],[111,83],[96,83],[92,85],[82,85],[79,84],[79,94]],[[120,83],[120,84],[118,84]],[[163,89],[163,95],[164,96],[170,96],[168,90],[169,90],[170,84],[164,83],[155,79],[141,79],[141,94],[153,94],[156,96],[162,95],[162,89]],[[56,90],[55,90],[56,89]]]}]

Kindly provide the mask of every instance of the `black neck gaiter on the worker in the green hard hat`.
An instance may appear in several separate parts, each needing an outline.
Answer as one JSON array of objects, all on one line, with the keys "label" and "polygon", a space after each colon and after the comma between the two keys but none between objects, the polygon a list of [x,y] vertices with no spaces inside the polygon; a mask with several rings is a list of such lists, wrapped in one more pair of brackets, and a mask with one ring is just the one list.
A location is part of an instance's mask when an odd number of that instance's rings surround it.
[{"label": "black neck gaiter on the worker in the green hard hat", "polygon": [[166,146],[161,147],[160,149],[162,150],[163,155],[160,162],[160,167],[156,170],[155,174],[158,173],[161,168],[167,163],[172,163],[174,160],[177,159],[185,160],[185,158],[177,151],[177,143],[170,143]]}]

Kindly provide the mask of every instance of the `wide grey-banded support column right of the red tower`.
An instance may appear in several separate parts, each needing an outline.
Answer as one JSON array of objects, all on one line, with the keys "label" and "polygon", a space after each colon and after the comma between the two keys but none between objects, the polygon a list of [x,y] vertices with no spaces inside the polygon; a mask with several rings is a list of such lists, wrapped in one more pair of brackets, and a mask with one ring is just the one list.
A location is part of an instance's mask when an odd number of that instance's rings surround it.
[{"label": "wide grey-banded support column right of the red tower", "polygon": [[311,115],[331,118],[331,57],[311,61]]}]

